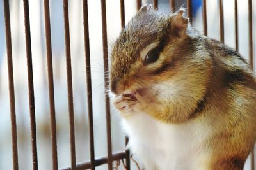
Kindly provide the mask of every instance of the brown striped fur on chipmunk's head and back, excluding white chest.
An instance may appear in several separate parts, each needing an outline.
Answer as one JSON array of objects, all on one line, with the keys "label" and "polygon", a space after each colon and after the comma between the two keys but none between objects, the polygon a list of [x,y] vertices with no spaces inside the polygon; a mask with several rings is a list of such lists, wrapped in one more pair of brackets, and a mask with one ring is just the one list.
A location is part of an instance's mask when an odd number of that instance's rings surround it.
[{"label": "brown striped fur on chipmunk's head and back, excluding white chest", "polygon": [[[255,76],[239,53],[195,31],[180,13],[165,16],[143,7],[132,18],[113,46],[111,90],[118,96],[141,91],[147,99],[134,111],[157,120],[210,127],[202,146],[208,169],[243,169],[256,139]],[[140,52],[154,42],[161,61],[144,66]],[[164,82],[180,91],[154,89]]]}]

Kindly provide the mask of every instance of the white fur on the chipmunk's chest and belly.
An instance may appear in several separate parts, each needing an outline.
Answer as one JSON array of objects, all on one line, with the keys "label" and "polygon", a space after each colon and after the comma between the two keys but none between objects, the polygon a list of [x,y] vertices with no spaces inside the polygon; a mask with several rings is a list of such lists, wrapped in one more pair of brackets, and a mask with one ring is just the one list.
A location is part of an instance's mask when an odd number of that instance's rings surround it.
[{"label": "white fur on the chipmunk's chest and belly", "polygon": [[148,169],[205,169],[202,167],[202,141],[206,129],[195,122],[164,124],[136,113],[123,120],[132,152]]}]

